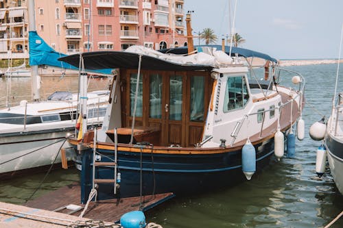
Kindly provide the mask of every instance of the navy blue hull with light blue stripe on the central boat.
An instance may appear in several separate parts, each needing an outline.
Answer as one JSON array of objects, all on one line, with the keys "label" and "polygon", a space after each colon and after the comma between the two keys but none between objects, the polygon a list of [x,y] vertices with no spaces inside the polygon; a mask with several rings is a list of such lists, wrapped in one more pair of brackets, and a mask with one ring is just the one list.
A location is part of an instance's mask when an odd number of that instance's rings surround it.
[{"label": "navy blue hull with light blue stripe on the central boat", "polygon": [[[274,154],[274,139],[255,145],[255,149],[259,171],[270,164]],[[102,154],[102,162],[110,162],[108,157],[114,159],[113,151],[98,149],[97,152]],[[93,151],[83,151],[79,159],[82,161],[81,201],[85,203],[92,188]],[[99,183],[98,199],[137,197],[141,194],[141,183],[143,195],[163,192],[195,194],[246,180],[241,170],[241,150],[204,155],[118,151],[117,163],[118,172],[121,173],[119,191],[113,194],[114,183]],[[114,179],[113,167],[97,167],[95,178]]]}]

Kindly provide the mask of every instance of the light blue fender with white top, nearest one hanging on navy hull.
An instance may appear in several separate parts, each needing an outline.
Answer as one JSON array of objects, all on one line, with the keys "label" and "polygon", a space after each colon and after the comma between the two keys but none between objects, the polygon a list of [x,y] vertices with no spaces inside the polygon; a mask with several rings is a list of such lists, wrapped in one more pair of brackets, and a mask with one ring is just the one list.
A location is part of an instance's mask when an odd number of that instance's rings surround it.
[{"label": "light blue fender with white top, nearest one hanging on navy hull", "polygon": [[250,180],[256,171],[256,151],[250,140],[246,141],[241,149],[241,168],[246,179]]}]

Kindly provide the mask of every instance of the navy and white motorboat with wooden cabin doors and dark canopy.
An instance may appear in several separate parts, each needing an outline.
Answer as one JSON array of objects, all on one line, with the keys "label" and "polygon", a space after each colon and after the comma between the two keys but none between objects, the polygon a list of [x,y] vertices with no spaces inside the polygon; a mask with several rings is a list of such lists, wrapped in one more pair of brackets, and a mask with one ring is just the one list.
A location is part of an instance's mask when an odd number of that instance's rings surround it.
[{"label": "navy and white motorboat with wooden cabin doors and dark canopy", "polygon": [[[60,58],[84,62],[80,71],[118,69],[102,127],[68,139],[78,153],[82,203],[94,192],[97,200],[209,192],[253,178],[283,157],[287,140],[287,153],[294,153],[300,74],[248,49],[184,51],[132,46]],[[294,88],[281,85],[287,76]]]}]

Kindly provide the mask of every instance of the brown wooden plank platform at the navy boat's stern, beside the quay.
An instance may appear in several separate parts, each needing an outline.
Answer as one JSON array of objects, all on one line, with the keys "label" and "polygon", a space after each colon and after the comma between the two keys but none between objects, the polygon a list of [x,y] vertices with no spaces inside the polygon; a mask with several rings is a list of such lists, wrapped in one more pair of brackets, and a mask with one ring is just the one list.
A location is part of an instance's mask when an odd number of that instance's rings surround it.
[{"label": "brown wooden plank platform at the navy boat's stern, beside the quay", "polygon": [[[165,194],[155,194],[143,197],[143,211],[149,210],[156,205],[171,199],[175,195],[171,192]],[[134,210],[139,210],[141,205],[141,197],[130,197],[122,199],[108,199],[104,201],[91,202],[84,214],[85,218],[95,220],[104,220],[108,222],[116,222],[120,217]],[[80,205],[80,186],[71,184],[60,188],[54,192],[38,197],[25,204],[27,207],[35,207],[43,210],[54,211],[58,208],[65,207],[69,204]],[[82,209],[83,210],[83,209]],[[73,216],[79,216],[82,210],[73,213]],[[71,211],[67,209],[59,210],[58,212],[68,214]]]}]

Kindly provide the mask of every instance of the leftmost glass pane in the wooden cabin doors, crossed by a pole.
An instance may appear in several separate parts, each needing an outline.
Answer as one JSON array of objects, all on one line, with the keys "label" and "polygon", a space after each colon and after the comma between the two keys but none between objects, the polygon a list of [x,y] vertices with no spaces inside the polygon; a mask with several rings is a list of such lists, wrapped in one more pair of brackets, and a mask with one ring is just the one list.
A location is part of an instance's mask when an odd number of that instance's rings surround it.
[{"label": "leftmost glass pane in the wooden cabin doors, crossed by a pole", "polygon": [[[130,75],[130,115],[133,116],[134,111],[134,97],[136,95],[137,73]],[[141,117],[143,114],[143,75],[139,77],[138,96],[136,116]]]}]

